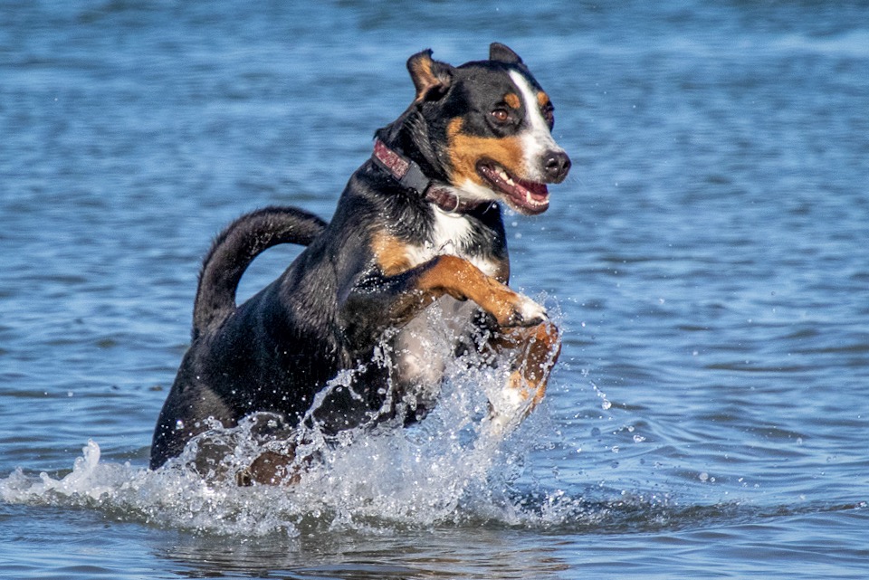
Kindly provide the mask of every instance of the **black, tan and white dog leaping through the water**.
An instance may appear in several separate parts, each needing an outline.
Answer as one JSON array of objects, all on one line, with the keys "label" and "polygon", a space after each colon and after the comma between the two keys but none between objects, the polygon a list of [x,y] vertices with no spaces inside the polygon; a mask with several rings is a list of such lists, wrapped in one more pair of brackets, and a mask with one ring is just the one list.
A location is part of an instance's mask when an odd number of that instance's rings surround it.
[{"label": "black, tan and white dog leaping through the water", "polygon": [[[492,43],[488,60],[457,67],[418,52],[407,70],[415,99],[377,130],[372,157],[350,176],[329,223],[267,207],[216,238],[200,272],[191,346],[159,414],[151,469],[209,424],[232,427],[252,414],[290,430],[316,423],[329,435],[420,420],[436,403],[446,363],[426,350],[435,302],[455,329],[456,353],[511,353],[503,396],[490,402],[493,429],[540,402],[559,328],[507,285],[500,204],[542,214],[547,185],[568,175],[570,159],[551,135],[552,103],[501,43]],[[306,247],[236,306],[245,268],[279,243]],[[349,384],[326,389],[341,373]],[[265,453],[265,467],[252,466],[240,481],[276,481],[292,453],[283,464]]]}]

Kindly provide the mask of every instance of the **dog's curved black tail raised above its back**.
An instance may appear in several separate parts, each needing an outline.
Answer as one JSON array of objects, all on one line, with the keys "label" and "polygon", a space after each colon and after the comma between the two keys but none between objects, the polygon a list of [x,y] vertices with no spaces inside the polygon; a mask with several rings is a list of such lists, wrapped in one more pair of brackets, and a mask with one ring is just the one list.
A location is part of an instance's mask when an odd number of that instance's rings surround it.
[{"label": "dog's curved black tail raised above its back", "polygon": [[238,282],[256,256],[281,243],[308,245],[326,225],[294,207],[264,207],[230,223],[202,263],[193,307],[194,340],[234,311]]}]

